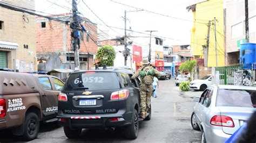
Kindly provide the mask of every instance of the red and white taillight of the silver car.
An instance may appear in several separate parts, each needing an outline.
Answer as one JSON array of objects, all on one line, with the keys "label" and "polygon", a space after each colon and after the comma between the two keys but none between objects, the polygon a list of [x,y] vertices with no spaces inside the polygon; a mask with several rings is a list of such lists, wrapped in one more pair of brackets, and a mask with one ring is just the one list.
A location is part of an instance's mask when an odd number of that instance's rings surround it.
[{"label": "red and white taillight of the silver car", "polygon": [[228,116],[215,115],[211,119],[211,125],[214,126],[224,126],[224,127],[234,127],[234,121]]}]

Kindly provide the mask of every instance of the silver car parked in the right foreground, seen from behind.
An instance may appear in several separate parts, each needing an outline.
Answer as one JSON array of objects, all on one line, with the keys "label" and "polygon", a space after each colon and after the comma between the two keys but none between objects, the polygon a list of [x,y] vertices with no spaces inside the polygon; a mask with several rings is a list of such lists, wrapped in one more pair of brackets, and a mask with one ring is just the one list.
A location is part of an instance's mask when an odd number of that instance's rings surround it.
[{"label": "silver car parked in the right foreground, seen from behind", "polygon": [[255,111],[256,88],[211,85],[194,101],[191,125],[201,142],[225,142]]}]

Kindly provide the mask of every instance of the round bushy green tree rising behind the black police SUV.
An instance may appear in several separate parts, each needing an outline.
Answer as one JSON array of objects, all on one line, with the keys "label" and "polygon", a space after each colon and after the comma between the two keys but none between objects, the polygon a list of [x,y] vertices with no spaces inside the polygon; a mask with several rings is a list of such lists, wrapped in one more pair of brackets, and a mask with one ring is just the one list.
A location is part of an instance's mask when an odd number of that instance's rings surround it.
[{"label": "round bushy green tree rising behind the black police SUV", "polygon": [[99,66],[114,66],[114,59],[116,58],[116,51],[112,46],[100,47],[97,51],[96,59],[100,61]]}]

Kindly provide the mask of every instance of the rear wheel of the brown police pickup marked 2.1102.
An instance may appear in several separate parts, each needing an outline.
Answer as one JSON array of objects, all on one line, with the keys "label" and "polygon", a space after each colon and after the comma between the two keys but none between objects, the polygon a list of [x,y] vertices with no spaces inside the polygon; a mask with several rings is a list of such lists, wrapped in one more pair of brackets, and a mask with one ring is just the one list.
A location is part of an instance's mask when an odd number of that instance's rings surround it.
[{"label": "rear wheel of the brown police pickup marked 2.1102", "polygon": [[36,113],[28,112],[25,116],[24,122],[24,134],[22,135],[22,139],[25,141],[33,140],[37,137],[39,132],[39,118]]}]

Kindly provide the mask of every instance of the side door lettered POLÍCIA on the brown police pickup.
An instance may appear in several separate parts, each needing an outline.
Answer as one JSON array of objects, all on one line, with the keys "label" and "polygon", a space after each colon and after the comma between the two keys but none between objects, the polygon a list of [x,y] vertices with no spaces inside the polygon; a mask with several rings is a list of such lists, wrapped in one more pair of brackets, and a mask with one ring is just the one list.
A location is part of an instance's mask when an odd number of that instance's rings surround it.
[{"label": "side door lettered POL\u00cdCIA on the brown police pickup", "polygon": [[43,118],[55,116],[58,111],[58,92],[55,85],[52,84],[49,77],[38,77],[41,86],[41,104],[43,110]]}]

